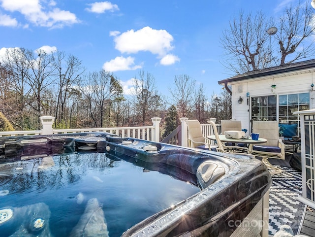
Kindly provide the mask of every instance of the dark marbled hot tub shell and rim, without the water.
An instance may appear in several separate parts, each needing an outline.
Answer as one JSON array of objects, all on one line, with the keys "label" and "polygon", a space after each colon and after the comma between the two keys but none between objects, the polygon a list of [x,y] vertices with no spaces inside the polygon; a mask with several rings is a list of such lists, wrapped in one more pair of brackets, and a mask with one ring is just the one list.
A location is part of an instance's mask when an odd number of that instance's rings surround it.
[{"label": "dark marbled hot tub shell and rim, without the water", "polygon": [[[256,159],[108,133],[0,137],[2,161],[78,150],[105,152],[111,159],[124,159],[202,189],[131,227],[123,237],[268,235],[268,190],[272,181],[269,171]],[[250,228],[242,225],[245,222]]]}]

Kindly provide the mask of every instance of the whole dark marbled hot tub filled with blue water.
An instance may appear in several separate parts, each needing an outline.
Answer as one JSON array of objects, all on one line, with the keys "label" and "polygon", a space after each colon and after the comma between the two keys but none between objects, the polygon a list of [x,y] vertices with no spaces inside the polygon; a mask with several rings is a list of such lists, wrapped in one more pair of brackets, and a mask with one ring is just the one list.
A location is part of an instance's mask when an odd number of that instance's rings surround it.
[{"label": "whole dark marbled hot tub filled with blue water", "polygon": [[[3,137],[0,156],[0,233],[7,233],[4,236],[268,235],[271,176],[260,161],[246,156],[108,133]],[[112,173],[114,166],[125,168]],[[128,172],[135,168],[135,174]],[[140,179],[133,181],[139,172]],[[107,173],[113,175],[110,181],[103,176]],[[142,176],[148,173],[154,176]],[[47,180],[57,177],[61,187],[53,181],[39,182],[45,175]],[[117,201],[117,190],[123,201]],[[109,201],[103,199],[107,195]],[[122,206],[126,200],[130,204],[115,214],[113,206]],[[139,209],[133,208],[139,200]],[[60,210],[65,216],[60,217]],[[124,211],[127,220],[114,218]],[[115,232],[116,226],[126,229]]]}]

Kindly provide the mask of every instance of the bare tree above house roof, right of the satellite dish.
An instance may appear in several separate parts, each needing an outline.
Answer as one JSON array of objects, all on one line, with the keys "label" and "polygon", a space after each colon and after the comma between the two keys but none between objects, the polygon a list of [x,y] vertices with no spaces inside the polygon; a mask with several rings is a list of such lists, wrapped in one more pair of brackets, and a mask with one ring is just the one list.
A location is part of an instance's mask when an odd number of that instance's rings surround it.
[{"label": "bare tree above house roof, right of the satellite dish", "polygon": [[[305,3],[305,7],[301,7],[300,1],[294,7],[287,6],[284,16],[280,18],[278,34],[275,35],[280,46],[280,65],[313,56],[315,53],[314,35],[314,8],[310,7],[309,2]],[[312,40],[306,41],[306,38]],[[285,62],[290,54],[293,54],[292,58]]]}]

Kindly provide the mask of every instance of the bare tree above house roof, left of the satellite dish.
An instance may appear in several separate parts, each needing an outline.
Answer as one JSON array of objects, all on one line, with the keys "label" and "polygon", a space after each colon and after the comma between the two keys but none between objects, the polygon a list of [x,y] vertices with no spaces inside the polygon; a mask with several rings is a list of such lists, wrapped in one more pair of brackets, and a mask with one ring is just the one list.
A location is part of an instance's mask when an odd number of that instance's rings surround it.
[{"label": "bare tree above house roof, left of the satellite dish", "polygon": [[225,50],[226,68],[241,74],[266,67],[268,60],[268,34],[272,19],[266,19],[260,11],[252,16],[240,12],[238,18],[230,21],[228,30],[223,31],[221,46]]}]

